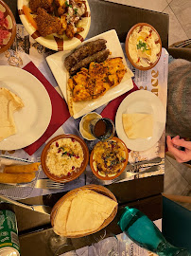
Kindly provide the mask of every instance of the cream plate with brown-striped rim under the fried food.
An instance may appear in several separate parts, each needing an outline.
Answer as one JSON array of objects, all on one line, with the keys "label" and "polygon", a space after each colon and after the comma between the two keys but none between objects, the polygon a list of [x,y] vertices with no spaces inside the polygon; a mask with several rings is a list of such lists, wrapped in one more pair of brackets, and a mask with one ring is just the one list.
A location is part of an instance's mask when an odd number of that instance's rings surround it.
[{"label": "cream plate with brown-striped rim under the fried food", "polygon": [[[66,35],[58,37],[56,34],[51,34],[49,36],[43,37],[39,35],[39,32],[27,21],[26,15],[23,11],[23,6],[28,7],[28,0],[18,0],[17,8],[19,11],[20,19],[26,27],[26,31],[33,39],[35,39],[39,44],[45,46],[49,49],[53,50],[71,50],[76,48],[78,45],[81,44],[81,41],[84,40],[89,32],[90,24],[91,24],[91,17],[90,17],[90,7],[88,5],[88,1],[86,1],[87,6],[87,13],[89,14],[88,17],[84,17],[80,21],[80,26],[84,27],[84,30],[78,34],[79,39],[77,37],[73,37],[73,39],[68,39]],[[57,43],[60,41],[60,43]],[[63,48],[63,49],[62,49]]]}]

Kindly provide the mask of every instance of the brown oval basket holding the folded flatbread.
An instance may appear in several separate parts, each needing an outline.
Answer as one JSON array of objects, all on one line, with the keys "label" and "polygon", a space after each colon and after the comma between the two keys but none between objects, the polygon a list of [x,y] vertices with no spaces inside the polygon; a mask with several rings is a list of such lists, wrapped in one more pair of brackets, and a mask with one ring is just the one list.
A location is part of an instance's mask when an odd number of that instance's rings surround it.
[{"label": "brown oval basket holding the folded flatbread", "polygon": [[[73,190],[71,192],[67,192],[65,195],[63,195],[61,197],[61,199],[56,203],[56,205],[53,207],[52,211],[51,211],[51,214],[50,214],[50,221],[51,221],[51,225],[52,227],[54,228],[54,220],[55,220],[55,217],[57,215],[57,212],[59,210],[59,208],[61,207],[61,204],[64,202],[64,200],[66,200],[68,197],[70,197],[71,195],[73,195],[74,193],[77,193],[78,191],[81,191],[81,190],[92,190],[94,192],[98,192],[98,193],[101,193],[105,196],[108,196],[109,198],[113,199],[115,202],[117,202],[115,196],[113,195],[113,193],[111,191],[109,191],[108,189],[106,189],[105,187],[103,186],[100,186],[100,185],[86,185],[86,186],[83,186],[83,187],[80,187],[76,190]],[[68,238],[78,238],[78,237],[83,237],[83,236],[87,236],[87,235],[90,235],[92,233],[96,233],[97,231],[101,230],[101,229],[104,229],[106,228],[114,219],[116,213],[117,213],[117,209],[118,209],[118,206],[116,206],[112,212],[112,214],[104,221],[104,223],[98,228],[96,229],[94,232],[87,232],[86,234],[83,234],[83,235],[74,235],[74,236],[68,236]]]}]

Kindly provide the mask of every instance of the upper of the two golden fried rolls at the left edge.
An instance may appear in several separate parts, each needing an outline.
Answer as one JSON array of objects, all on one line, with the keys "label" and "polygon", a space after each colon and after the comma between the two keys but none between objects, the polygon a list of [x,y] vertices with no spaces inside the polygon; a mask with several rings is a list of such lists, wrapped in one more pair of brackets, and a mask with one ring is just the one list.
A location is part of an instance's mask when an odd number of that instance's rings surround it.
[{"label": "upper of the two golden fried rolls at the left edge", "polygon": [[5,174],[30,174],[39,170],[41,163],[36,162],[27,165],[9,165],[4,168]]}]

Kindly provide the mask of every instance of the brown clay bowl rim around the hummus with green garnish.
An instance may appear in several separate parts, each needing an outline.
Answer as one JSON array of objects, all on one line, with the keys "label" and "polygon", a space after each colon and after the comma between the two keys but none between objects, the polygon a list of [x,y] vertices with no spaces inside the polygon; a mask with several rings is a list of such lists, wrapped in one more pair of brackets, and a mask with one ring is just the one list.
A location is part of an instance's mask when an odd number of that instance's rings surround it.
[{"label": "brown clay bowl rim around the hummus with green garnish", "polygon": [[[158,58],[157,60],[153,63],[153,64],[150,64],[149,66],[145,67],[145,66],[141,66],[141,65],[137,65],[133,62],[133,60],[131,59],[130,57],[130,53],[129,53],[129,39],[130,39],[130,34],[132,33],[132,31],[138,27],[138,26],[148,26],[150,27],[152,30],[154,30],[156,32],[156,34],[158,35],[159,37],[159,44],[160,44],[160,52],[158,54]],[[161,58],[161,53],[162,53],[162,42],[161,42],[161,37],[159,35],[159,33],[157,32],[157,30],[152,27],[151,25],[149,25],[148,23],[138,23],[136,25],[134,25],[133,27],[130,28],[130,31],[128,32],[128,35],[126,37],[126,44],[125,44],[125,48],[126,48],[126,54],[128,56],[128,59],[130,61],[130,64],[132,64],[134,67],[136,67],[137,69],[140,69],[140,70],[148,70],[148,69],[151,69],[153,68],[160,60]]]}]

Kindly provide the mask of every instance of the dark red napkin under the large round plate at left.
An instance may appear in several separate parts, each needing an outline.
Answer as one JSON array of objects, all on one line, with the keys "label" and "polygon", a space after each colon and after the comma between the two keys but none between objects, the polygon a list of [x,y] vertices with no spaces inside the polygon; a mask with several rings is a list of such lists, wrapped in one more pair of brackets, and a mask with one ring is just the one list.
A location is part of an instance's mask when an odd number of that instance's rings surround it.
[{"label": "dark red napkin under the large round plate at left", "polygon": [[60,94],[56,91],[52,84],[45,79],[43,74],[32,62],[26,64],[23,69],[43,83],[52,104],[52,117],[47,129],[43,133],[43,136],[31,145],[24,148],[28,155],[33,155],[43,145],[43,143],[49,137],[51,137],[67,119],[70,118],[70,114],[66,102],[61,98]]}]

